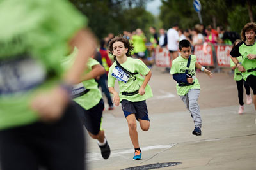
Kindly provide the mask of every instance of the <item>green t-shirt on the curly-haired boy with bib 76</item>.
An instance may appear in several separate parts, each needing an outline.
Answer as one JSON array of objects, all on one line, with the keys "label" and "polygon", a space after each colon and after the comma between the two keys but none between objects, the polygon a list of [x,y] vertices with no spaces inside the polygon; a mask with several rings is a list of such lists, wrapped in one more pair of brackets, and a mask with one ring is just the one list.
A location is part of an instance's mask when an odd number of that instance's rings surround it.
[{"label": "green t-shirt on the curly-haired boy with bib 76", "polygon": [[[115,86],[116,78],[114,76],[112,76],[115,66],[116,66],[116,62],[114,62],[112,64],[112,66],[109,68],[108,87]],[[147,75],[149,73],[150,69],[148,69],[148,67],[141,60],[132,59],[131,57],[127,57],[127,60],[123,64],[121,64],[121,66],[124,67],[125,69],[127,69],[128,71],[130,71],[131,73],[138,72],[138,74],[131,75],[129,77],[129,80],[127,81],[127,83],[124,83],[123,81],[118,81],[118,85],[119,85],[119,89],[120,89],[120,93],[119,93],[120,101],[122,101],[123,99],[132,101],[132,102],[144,101],[144,100],[148,99],[149,97],[153,96],[151,87],[148,84],[145,88],[144,95],[140,95],[140,94],[134,94],[131,96],[122,95],[122,92],[131,93],[131,92],[135,92],[136,90],[139,90],[140,86],[142,85],[142,83],[144,82],[144,79],[145,79],[143,76]],[[141,76],[141,75],[143,75],[143,76]]]}]

